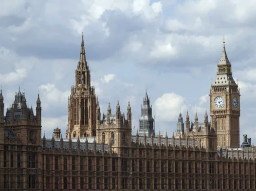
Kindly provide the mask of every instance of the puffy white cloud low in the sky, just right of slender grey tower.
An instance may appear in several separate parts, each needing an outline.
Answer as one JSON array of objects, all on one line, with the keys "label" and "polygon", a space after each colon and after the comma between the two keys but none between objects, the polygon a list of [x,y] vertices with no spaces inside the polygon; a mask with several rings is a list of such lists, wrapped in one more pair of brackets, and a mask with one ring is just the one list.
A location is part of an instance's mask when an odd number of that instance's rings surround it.
[{"label": "puffy white cloud low in the sky, just right of slender grey tower", "polygon": [[154,108],[157,121],[176,121],[180,110],[184,112],[188,106],[183,96],[165,93],[155,100]]}]

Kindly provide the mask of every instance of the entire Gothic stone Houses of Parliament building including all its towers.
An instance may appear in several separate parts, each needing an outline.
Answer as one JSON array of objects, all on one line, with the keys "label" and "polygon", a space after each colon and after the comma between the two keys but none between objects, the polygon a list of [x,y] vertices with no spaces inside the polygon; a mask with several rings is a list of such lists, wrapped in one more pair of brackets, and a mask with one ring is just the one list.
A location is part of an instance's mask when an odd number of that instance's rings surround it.
[{"label": "entire Gothic stone Houses of Parliament building including all its towers", "polygon": [[65,137],[59,128],[41,137],[39,95],[36,113],[20,90],[4,113],[0,90],[0,191],[255,191],[256,149],[246,135],[240,144],[240,93],[224,40],[209,96],[203,122],[197,113],[191,119],[187,112],[184,122],[177,113],[177,131],[168,137],[155,134],[146,93],[132,135],[129,103],[126,114],[118,101],[101,114],[82,35]]}]

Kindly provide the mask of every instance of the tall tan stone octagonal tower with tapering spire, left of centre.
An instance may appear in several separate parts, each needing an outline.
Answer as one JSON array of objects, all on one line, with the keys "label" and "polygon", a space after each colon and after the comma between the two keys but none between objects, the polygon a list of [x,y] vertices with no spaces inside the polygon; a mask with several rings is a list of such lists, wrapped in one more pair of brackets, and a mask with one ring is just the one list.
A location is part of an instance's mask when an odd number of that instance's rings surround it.
[{"label": "tall tan stone octagonal tower with tapering spire, left of centre", "polygon": [[91,70],[86,61],[82,35],[80,60],[75,70],[75,86],[71,88],[68,105],[66,137],[92,137],[96,135],[96,96],[91,86]]}]

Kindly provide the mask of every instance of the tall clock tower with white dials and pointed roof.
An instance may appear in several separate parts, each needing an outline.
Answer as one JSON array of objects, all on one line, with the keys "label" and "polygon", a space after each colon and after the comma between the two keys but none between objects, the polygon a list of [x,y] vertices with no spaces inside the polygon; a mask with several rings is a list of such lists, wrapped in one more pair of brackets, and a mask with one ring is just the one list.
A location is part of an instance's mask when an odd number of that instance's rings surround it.
[{"label": "tall clock tower with white dials and pointed roof", "polygon": [[[239,147],[240,94],[238,84],[232,77],[225,39],[222,54],[217,66],[217,77],[210,89],[211,121],[217,122],[218,148]],[[212,124],[212,127],[214,125]]]}]

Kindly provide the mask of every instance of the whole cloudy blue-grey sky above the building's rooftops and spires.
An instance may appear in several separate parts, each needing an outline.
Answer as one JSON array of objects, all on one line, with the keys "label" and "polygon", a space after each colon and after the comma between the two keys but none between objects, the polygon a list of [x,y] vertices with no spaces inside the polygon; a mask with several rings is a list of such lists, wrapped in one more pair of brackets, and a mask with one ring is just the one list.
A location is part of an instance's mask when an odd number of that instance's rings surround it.
[{"label": "whole cloudy blue-grey sky above the building's rooftops and spires", "polygon": [[[132,107],[138,127],[147,89],[156,131],[171,136],[181,111],[203,121],[222,36],[241,92],[240,137],[256,140],[255,0],[0,0],[0,85],[42,101],[42,133],[67,129],[68,96],[84,32],[101,113]],[[7,107],[5,107],[6,109]],[[135,133],[135,130],[133,131]],[[242,140],[242,139],[240,139]]]}]

